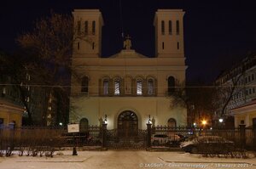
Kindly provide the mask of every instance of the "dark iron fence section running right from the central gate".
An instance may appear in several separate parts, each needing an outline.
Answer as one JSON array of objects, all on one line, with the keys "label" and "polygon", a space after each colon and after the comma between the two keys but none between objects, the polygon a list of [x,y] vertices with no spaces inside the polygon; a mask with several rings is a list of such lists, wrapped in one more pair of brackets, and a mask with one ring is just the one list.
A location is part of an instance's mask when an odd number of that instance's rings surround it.
[{"label": "dark iron fence section running right from the central gate", "polygon": [[255,149],[256,129],[246,128],[195,128],[195,127],[166,127],[151,128],[150,146],[177,147],[180,142],[190,136],[219,136],[233,141],[236,147]]}]

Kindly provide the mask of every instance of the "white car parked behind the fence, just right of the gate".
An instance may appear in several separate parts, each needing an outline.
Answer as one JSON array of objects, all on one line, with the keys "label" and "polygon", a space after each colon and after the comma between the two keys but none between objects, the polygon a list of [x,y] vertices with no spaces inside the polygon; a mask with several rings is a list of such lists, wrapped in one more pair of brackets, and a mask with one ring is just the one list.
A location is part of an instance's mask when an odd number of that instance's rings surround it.
[{"label": "white car parked behind the fence, just right of the gate", "polygon": [[153,134],[151,137],[151,144],[171,146],[172,144],[179,142],[181,138],[182,135],[177,133]]}]

